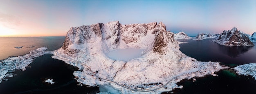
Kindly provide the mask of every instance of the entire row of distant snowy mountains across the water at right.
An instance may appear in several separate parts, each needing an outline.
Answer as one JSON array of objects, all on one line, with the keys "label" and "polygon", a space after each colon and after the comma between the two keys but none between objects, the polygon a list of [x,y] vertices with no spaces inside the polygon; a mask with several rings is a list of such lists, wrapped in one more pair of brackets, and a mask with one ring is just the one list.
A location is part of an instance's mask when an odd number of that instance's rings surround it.
[{"label": "entire row of distant snowy mountains across the water at right", "polygon": [[256,42],[256,32],[251,35],[245,34],[242,31],[238,31],[237,28],[232,30],[224,30],[221,34],[198,34],[195,37],[190,37],[184,32],[179,32],[174,34],[175,39],[191,39],[195,41],[200,41],[208,38],[216,38],[213,42],[225,46],[254,46],[252,42]]}]

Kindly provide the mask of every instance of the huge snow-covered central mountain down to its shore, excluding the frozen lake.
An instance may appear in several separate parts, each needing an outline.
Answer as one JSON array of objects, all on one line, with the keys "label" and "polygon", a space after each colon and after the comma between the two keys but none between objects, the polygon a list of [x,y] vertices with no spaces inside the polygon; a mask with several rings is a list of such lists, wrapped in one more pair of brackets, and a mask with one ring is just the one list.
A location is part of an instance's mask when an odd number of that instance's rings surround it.
[{"label": "huge snow-covered central mountain down to its shore, excluding the frozen lake", "polygon": [[[203,77],[228,67],[200,62],[179,50],[174,33],[160,23],[122,25],[119,21],[72,27],[63,47],[54,56],[83,71],[77,81],[88,86],[112,87],[119,93],[161,93],[182,88],[182,79]],[[117,49],[141,49],[140,56],[114,60],[107,54]],[[127,54],[127,53],[118,53]],[[101,87],[102,88],[102,87]]]}]

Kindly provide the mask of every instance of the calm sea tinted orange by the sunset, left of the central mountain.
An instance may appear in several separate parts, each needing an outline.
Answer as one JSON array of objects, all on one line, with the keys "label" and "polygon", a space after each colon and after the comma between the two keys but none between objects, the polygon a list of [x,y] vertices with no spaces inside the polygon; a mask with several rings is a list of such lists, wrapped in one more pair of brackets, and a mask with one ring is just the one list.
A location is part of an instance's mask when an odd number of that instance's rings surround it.
[{"label": "calm sea tinted orange by the sunset, left of the central mountain", "polygon": [[[0,37],[0,60],[9,56],[20,56],[40,47],[47,47],[46,51],[53,51],[60,48],[65,40],[64,36],[59,37]],[[21,47],[22,48],[14,48]],[[31,47],[35,46],[35,47]],[[31,47],[31,48],[29,48]]]}]

